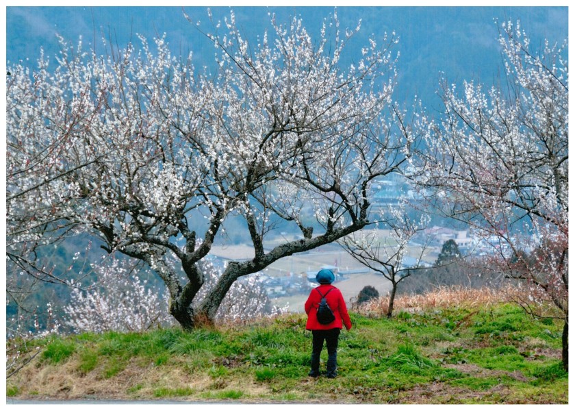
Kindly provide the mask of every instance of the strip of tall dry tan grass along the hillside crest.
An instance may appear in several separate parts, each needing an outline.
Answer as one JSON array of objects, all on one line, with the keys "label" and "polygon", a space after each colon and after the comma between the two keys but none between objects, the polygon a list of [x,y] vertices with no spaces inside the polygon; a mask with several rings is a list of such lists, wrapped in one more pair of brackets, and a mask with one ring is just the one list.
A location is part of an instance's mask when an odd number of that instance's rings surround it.
[{"label": "strip of tall dry tan grass along the hillside crest", "polygon": [[[417,312],[428,308],[449,307],[485,307],[496,303],[514,301],[516,288],[501,290],[492,288],[465,288],[461,286],[440,287],[422,295],[400,295],[394,301],[394,311]],[[373,299],[359,306],[354,311],[366,315],[387,315],[389,296]]]}]

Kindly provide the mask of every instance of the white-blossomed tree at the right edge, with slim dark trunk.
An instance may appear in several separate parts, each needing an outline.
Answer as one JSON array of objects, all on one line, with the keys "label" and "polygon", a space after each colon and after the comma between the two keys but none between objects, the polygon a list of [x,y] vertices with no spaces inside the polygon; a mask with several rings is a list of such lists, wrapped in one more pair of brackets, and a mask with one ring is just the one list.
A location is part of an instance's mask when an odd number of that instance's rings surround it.
[{"label": "white-blossomed tree at the right edge, with slim dark trunk", "polygon": [[528,292],[525,308],[563,319],[567,369],[567,40],[534,51],[519,23],[505,23],[499,42],[505,84],[465,83],[461,97],[445,84],[440,121],[421,119],[429,153],[420,181],[446,214],[483,233],[492,266]]}]

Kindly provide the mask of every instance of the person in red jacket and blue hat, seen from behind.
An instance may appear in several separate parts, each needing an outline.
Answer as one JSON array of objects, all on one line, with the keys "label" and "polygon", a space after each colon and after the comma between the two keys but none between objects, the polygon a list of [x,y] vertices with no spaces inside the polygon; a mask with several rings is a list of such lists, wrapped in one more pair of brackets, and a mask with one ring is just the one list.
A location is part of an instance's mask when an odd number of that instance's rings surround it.
[{"label": "person in red jacket and blue hat, seen from behind", "polygon": [[[335,378],[337,375],[337,341],[340,338],[340,331],[345,325],[346,329],[351,329],[351,321],[346,307],[344,296],[339,288],[331,283],[335,276],[328,269],[322,269],[316,275],[316,281],[320,285],[309,293],[305,301],[305,312],[307,323],[305,329],[311,330],[311,371],[310,377],[320,376],[320,353],[322,352],[324,341],[327,346],[327,377]],[[317,318],[318,306],[325,297],[329,308],[333,311],[335,320],[327,325],[320,324]]]}]

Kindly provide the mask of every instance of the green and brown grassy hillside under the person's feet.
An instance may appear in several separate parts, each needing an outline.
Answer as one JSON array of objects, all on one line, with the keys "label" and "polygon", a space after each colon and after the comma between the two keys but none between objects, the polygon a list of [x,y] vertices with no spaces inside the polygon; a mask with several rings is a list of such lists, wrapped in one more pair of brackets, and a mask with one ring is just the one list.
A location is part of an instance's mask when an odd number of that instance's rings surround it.
[{"label": "green and brown grassy hillside under the person's feet", "polygon": [[[428,300],[431,301],[431,300]],[[247,325],[53,336],[7,379],[31,399],[246,403],[567,403],[561,322],[511,303],[353,312],[339,376],[307,377],[311,334],[291,314]],[[475,301],[476,302],[476,301]],[[419,302],[421,304],[421,301]],[[327,353],[322,353],[324,369]]]}]

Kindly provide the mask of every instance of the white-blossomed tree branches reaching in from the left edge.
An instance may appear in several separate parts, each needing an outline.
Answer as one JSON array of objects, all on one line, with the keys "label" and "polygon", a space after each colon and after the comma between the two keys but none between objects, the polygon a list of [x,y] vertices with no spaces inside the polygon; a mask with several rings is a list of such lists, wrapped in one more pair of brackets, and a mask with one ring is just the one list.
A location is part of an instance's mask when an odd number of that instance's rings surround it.
[{"label": "white-blossomed tree branches reaching in from the left edge", "polygon": [[[79,45],[80,47],[80,45]],[[63,50],[65,66],[69,50]],[[71,61],[70,64],[78,64]],[[38,69],[12,66],[6,77],[6,258],[8,291],[17,298],[37,282],[66,283],[62,273],[38,259],[38,249],[75,234],[66,219],[77,210],[72,173],[102,160],[107,148],[87,144],[82,131],[103,110],[74,78],[73,66],[49,72],[41,53]]]}]

